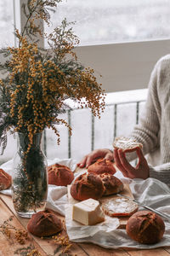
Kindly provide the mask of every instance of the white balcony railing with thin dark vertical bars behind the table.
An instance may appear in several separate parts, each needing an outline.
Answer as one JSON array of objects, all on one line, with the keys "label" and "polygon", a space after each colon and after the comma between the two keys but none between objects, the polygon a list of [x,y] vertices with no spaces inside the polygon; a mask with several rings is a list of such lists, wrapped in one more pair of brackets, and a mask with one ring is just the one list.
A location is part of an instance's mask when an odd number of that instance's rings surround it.
[{"label": "white balcony railing with thin dark vertical bars behind the table", "polygon": [[[46,129],[42,148],[48,159],[72,158],[80,160],[95,148],[111,148],[117,136],[127,136],[138,124],[144,108],[147,90],[111,93],[106,96],[105,112],[101,118],[94,117],[88,108],[74,108],[62,114],[72,128],[72,135],[64,125],[57,125],[60,145],[54,131]],[[64,116],[63,116],[64,115]],[[16,151],[16,140],[8,135],[8,146],[1,156],[0,163],[10,160]]]}]

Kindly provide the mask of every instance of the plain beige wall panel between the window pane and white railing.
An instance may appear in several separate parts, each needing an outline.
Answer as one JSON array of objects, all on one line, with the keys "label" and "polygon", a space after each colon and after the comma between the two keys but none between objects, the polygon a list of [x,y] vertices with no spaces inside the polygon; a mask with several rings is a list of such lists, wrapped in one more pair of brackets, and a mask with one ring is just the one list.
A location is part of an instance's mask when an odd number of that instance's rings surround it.
[{"label": "plain beige wall panel between the window pane and white railing", "polygon": [[135,90],[148,86],[156,61],[170,53],[170,40],[79,46],[79,61],[103,78],[106,92]]}]

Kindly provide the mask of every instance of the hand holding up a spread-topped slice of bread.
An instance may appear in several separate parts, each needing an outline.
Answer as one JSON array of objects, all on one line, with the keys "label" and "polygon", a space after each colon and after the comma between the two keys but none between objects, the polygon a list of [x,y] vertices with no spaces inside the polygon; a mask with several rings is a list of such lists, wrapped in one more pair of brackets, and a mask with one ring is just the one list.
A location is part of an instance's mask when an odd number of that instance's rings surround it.
[{"label": "hand holding up a spread-topped slice of bread", "polygon": [[122,149],[115,149],[114,160],[116,167],[122,172],[124,177],[138,177],[146,179],[147,177],[150,177],[150,167],[148,166],[147,160],[144,158],[142,150],[137,148],[136,152],[139,157],[139,162],[136,167],[133,167],[128,163],[125,153],[122,151]]}]

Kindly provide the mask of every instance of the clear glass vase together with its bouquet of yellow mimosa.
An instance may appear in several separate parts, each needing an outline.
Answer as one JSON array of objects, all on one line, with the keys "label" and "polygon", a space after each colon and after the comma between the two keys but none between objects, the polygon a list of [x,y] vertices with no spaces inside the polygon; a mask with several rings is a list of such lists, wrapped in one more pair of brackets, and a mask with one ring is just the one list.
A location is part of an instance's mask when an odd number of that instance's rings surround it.
[{"label": "clear glass vase together with its bouquet of yellow mimosa", "polygon": [[[7,131],[17,132],[20,148],[14,157],[13,202],[20,216],[30,217],[44,207],[47,200],[47,165],[37,143],[45,128],[58,136],[58,124],[71,127],[59,113],[71,98],[80,108],[92,109],[98,115],[105,106],[104,91],[94,70],[77,61],[74,47],[79,43],[72,32],[72,23],[61,22],[54,32],[42,33],[41,22],[49,24],[50,9],[62,0],[27,0],[22,5],[26,23],[22,31],[15,29],[17,47],[0,52],[5,61],[0,70],[0,153],[7,144]],[[39,47],[38,38],[48,40],[48,49]]]}]

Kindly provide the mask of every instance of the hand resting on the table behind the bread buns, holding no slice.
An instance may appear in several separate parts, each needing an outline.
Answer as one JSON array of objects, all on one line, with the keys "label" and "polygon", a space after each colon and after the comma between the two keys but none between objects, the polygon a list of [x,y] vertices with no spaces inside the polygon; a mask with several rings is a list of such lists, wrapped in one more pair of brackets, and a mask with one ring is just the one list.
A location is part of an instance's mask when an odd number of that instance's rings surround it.
[{"label": "hand resting on the table behind the bread buns, holding no slice", "polygon": [[77,166],[83,168],[92,165],[95,161],[100,158],[105,158],[107,160],[113,160],[113,152],[110,149],[95,149],[91,153],[85,155],[85,157],[77,164]]}]

